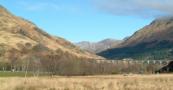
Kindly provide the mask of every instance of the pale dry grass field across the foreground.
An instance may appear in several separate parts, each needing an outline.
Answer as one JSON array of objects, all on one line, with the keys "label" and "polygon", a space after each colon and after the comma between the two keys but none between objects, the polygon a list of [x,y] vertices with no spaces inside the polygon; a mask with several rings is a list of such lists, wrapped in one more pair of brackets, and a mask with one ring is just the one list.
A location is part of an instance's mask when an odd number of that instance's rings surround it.
[{"label": "pale dry grass field across the foreground", "polygon": [[173,90],[173,75],[0,78],[0,90]]}]

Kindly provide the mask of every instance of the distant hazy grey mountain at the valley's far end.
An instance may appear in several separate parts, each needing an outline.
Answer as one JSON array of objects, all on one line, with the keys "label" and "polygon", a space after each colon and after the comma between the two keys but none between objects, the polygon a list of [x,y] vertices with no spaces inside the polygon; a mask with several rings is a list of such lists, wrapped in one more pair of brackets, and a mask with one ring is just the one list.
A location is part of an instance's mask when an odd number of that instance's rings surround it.
[{"label": "distant hazy grey mountain at the valley's far end", "polygon": [[83,41],[83,42],[76,43],[76,45],[79,46],[83,50],[87,50],[92,53],[99,53],[111,47],[115,47],[120,42],[121,42],[120,40],[105,39],[105,40],[94,42],[94,43]]}]

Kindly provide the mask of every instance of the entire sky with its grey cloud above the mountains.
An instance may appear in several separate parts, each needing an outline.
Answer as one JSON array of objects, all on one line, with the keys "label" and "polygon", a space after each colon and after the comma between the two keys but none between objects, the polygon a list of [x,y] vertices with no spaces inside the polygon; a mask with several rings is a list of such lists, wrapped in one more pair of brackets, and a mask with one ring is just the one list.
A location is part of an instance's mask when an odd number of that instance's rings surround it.
[{"label": "entire sky with its grey cloud above the mountains", "polygon": [[[148,1],[148,2],[147,2]],[[123,39],[172,14],[171,0],[0,0],[13,14],[71,42]],[[173,3],[173,2],[172,2]]]}]

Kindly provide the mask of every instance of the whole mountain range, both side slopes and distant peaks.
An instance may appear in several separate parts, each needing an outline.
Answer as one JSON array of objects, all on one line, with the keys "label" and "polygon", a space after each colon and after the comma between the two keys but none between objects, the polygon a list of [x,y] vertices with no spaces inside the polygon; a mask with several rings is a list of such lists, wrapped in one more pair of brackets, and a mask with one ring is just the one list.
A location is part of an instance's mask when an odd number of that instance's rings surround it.
[{"label": "whole mountain range, both side slopes and distant peaks", "polygon": [[84,41],[74,45],[0,6],[0,62],[48,54],[66,59],[102,59],[101,56],[108,59],[173,59],[173,17],[156,19],[124,40]]}]

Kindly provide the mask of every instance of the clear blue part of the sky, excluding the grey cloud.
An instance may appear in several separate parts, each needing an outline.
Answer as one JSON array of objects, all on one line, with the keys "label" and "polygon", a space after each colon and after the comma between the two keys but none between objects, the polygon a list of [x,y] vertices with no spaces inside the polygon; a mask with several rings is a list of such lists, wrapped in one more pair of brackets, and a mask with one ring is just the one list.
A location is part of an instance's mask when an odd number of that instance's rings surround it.
[{"label": "clear blue part of the sky, excluding the grey cloud", "polygon": [[0,4],[46,32],[71,42],[123,39],[153,20],[109,13],[90,0],[1,0]]}]

